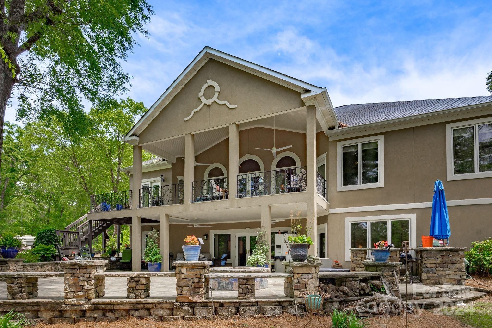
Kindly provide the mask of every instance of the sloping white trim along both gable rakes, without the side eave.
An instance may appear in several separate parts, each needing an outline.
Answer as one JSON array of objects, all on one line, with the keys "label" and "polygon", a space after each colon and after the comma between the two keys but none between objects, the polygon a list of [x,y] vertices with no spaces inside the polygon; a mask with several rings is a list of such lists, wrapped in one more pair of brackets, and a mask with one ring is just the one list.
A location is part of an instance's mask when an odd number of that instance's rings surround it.
[{"label": "sloping white trim along both gable rakes, without the side eave", "polygon": [[[184,69],[184,71],[178,76],[176,80],[167,88],[164,93],[157,99],[157,101],[149,108],[149,110],[138,120],[138,122],[132,127],[132,129],[123,138],[124,141],[128,141],[133,135],[139,135],[140,132],[152,121],[152,119],[167,105],[167,103],[179,92],[179,90],[193,77],[193,75],[202,67],[202,65],[209,59],[224,62],[236,68],[245,70],[251,74],[270,80],[277,84],[283,85],[287,88],[297,90],[301,93],[305,93],[309,90],[314,94],[321,93],[324,88],[320,88],[309,84],[307,82],[295,79],[288,75],[276,72],[269,68],[260,66],[247,60],[223,53],[216,49],[205,47],[196,56],[191,63]],[[331,102],[330,102],[331,105]],[[333,106],[332,106],[333,107]]]}]

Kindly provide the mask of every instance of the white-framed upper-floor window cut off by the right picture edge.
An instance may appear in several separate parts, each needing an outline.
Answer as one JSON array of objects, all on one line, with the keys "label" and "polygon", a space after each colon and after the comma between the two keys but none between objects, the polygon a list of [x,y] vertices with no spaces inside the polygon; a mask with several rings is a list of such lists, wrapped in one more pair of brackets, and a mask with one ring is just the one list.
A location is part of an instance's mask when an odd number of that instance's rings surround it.
[{"label": "white-framed upper-floor window cut off by the right picture edge", "polygon": [[492,118],[446,124],[448,180],[492,177]]}]

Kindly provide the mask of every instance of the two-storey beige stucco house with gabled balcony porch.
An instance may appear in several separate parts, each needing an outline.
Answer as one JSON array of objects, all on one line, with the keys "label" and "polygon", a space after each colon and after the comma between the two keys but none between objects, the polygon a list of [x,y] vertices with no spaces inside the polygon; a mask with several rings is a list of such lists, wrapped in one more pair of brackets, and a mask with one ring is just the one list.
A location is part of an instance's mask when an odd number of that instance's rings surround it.
[{"label": "two-storey beige stucco house with gabled balcony porch", "polygon": [[382,239],[419,246],[436,179],[450,244],[492,236],[492,96],[334,108],[326,88],[205,47],[125,141],[131,190],[94,195],[85,236],[130,224],[134,271],[152,228],[165,259],[196,235],[245,266],[261,225],[288,233],[299,211],[310,252],[342,264]]}]

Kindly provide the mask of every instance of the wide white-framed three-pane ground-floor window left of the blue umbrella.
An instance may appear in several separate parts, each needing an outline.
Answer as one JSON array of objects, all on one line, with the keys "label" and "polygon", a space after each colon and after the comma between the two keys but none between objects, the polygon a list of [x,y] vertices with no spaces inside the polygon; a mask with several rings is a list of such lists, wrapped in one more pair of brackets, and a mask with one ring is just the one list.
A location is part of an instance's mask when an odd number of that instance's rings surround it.
[{"label": "wide white-framed three-pane ground-floor window left of the blue umbrella", "polygon": [[345,260],[350,261],[350,248],[373,248],[374,243],[388,240],[395,247],[410,241],[416,247],[416,215],[374,215],[345,218]]}]

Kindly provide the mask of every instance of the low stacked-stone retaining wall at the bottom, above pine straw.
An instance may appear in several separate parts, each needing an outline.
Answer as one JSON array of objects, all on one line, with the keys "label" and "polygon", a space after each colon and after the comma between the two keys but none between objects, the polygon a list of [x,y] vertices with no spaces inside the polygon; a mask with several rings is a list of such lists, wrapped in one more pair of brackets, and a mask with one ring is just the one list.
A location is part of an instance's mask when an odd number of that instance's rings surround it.
[{"label": "low stacked-stone retaining wall at the bottom, above pine straw", "polygon": [[[98,300],[86,305],[67,305],[63,300],[15,301],[0,300],[0,315],[11,309],[26,315],[33,322],[46,324],[74,324],[78,322],[113,322],[126,317],[176,321],[194,319],[246,319],[250,315],[279,316],[294,314],[294,301],[272,299],[264,301],[238,300],[236,302],[211,301],[175,302],[169,299],[142,300]],[[297,305],[298,313],[304,312],[304,305]]]}]

